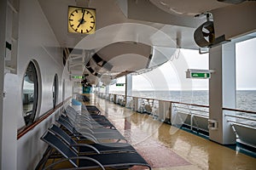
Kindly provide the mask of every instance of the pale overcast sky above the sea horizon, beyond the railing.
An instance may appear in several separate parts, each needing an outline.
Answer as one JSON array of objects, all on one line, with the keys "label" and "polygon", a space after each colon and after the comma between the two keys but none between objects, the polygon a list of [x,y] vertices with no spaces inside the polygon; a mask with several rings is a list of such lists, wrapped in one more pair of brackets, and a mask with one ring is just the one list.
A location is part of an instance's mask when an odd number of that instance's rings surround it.
[{"label": "pale overcast sky above the sea horizon, beyond the railing", "polygon": [[[179,59],[173,59],[148,73],[134,76],[133,90],[198,90],[208,89],[207,79],[188,79],[187,69],[208,69],[208,54],[197,50],[182,49]],[[236,88],[256,90],[256,38],[236,43]],[[125,77],[119,79],[125,82]],[[112,86],[112,90],[122,90]],[[124,89],[124,88],[123,88]]]}]

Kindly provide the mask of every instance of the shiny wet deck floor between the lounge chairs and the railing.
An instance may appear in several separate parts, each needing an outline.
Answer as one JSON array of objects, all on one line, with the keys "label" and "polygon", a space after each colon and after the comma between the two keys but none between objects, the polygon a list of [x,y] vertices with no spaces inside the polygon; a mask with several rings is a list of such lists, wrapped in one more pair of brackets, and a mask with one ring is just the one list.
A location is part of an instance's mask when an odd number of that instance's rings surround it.
[{"label": "shiny wet deck floor between the lounge chairs and the railing", "polygon": [[90,105],[96,105],[108,116],[153,169],[256,169],[255,158],[154,120],[147,114],[94,96]]}]

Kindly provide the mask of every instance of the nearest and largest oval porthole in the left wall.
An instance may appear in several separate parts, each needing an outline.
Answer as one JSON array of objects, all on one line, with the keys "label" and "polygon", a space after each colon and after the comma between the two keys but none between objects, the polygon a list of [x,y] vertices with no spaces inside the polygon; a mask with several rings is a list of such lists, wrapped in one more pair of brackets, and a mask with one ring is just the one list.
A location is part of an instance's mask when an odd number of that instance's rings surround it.
[{"label": "nearest and largest oval porthole in the left wall", "polygon": [[38,106],[38,73],[32,61],[28,64],[23,77],[22,101],[23,117],[28,126],[34,122]]}]

